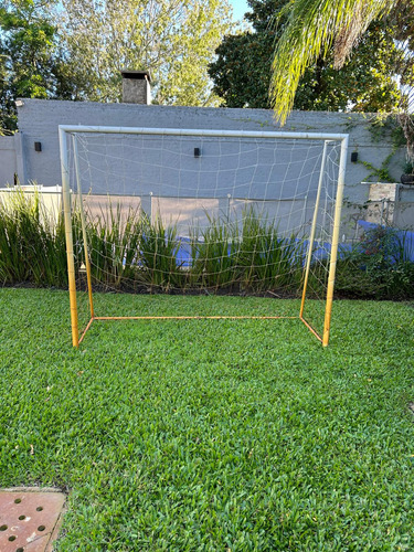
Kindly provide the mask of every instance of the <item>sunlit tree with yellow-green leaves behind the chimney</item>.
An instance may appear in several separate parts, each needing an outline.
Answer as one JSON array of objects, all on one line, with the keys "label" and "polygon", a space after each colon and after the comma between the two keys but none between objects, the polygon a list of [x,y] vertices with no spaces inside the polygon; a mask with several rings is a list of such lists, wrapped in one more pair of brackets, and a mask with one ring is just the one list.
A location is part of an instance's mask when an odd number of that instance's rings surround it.
[{"label": "sunlit tree with yellow-green leaves behind the chimney", "polygon": [[231,29],[226,1],[63,0],[61,40],[78,97],[120,99],[120,71],[149,70],[155,103],[217,105],[208,65]]}]

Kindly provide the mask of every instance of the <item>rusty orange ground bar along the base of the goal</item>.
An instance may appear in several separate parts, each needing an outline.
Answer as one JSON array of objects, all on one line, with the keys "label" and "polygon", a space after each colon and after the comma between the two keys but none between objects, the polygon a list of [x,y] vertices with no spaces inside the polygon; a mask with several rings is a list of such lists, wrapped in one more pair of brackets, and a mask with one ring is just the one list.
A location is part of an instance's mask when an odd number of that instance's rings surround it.
[{"label": "rusty orange ground bar along the base of the goal", "polygon": [[298,316],[95,316],[91,318],[82,332],[78,344],[82,343],[95,320],[300,320],[321,343],[323,341],[310,323],[304,317]]}]

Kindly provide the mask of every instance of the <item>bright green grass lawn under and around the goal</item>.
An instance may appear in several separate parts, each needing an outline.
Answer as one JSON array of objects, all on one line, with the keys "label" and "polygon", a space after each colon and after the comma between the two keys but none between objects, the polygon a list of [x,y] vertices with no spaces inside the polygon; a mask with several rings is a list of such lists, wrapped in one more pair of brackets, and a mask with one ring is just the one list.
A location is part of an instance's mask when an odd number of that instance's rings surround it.
[{"label": "bright green grass lawn under and around the goal", "polygon": [[337,301],[328,349],[296,320],[95,322],[74,350],[66,293],[2,289],[0,485],[68,491],[59,551],[413,550],[413,317]]}]

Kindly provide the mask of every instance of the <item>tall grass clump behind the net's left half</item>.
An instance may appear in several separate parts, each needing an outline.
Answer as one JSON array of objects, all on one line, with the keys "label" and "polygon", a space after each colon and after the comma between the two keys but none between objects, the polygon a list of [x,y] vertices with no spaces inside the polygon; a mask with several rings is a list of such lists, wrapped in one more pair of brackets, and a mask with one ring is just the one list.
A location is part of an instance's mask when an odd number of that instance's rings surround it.
[{"label": "tall grass clump behind the net's left half", "polygon": [[108,204],[87,213],[87,237],[94,285],[107,289],[169,291],[185,286],[176,226],[160,216],[150,222],[141,209]]}]

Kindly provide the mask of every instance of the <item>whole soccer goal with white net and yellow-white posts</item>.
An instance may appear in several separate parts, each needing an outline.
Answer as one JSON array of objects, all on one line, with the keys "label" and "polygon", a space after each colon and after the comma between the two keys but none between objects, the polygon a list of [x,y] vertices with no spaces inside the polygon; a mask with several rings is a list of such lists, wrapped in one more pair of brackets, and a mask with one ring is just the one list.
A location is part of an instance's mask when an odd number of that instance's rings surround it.
[{"label": "whole soccer goal with white net and yellow-white posts", "polygon": [[[348,135],[59,132],[74,347],[99,320],[191,318],[296,318],[328,344]],[[96,290],[258,295],[272,312],[100,312]]]}]

